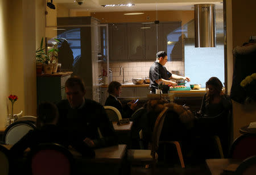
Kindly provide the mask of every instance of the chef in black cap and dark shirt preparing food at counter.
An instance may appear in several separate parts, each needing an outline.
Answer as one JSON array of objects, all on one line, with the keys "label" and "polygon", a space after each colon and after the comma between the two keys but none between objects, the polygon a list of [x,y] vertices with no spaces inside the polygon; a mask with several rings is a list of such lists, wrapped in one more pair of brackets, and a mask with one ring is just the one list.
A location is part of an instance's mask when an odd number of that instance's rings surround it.
[{"label": "chef in black cap and dark shirt preparing food at counter", "polygon": [[177,76],[175,74],[172,74],[169,72],[166,67],[164,66],[167,62],[167,53],[164,51],[160,51],[156,53],[156,61],[151,65],[150,71],[149,71],[149,77],[150,77],[150,88],[151,92],[155,94],[155,90],[158,89],[158,85],[162,81],[164,83],[162,92],[164,94],[168,93],[169,86],[176,86],[175,81],[170,81],[169,79],[174,79],[174,80],[187,80],[188,82],[190,81],[189,77],[182,77],[182,76]]}]

